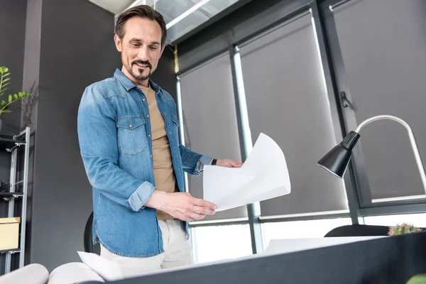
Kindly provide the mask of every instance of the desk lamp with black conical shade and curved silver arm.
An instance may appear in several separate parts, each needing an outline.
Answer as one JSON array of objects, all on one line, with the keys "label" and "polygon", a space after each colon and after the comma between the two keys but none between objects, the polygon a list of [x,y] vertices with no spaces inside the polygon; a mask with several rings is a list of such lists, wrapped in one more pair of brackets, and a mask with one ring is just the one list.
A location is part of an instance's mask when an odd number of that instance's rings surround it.
[{"label": "desk lamp with black conical shade and curved silver arm", "polygon": [[397,121],[402,124],[405,129],[407,129],[408,137],[410,138],[411,148],[413,148],[415,162],[417,163],[417,168],[419,169],[420,178],[422,178],[423,189],[426,192],[425,168],[423,168],[422,158],[420,158],[419,148],[417,147],[417,143],[415,141],[413,129],[411,129],[410,125],[407,122],[396,116],[373,116],[361,122],[361,124],[359,124],[358,128],[355,131],[349,132],[349,134],[343,139],[342,143],[335,146],[334,148],[332,148],[331,151],[329,151],[329,153],[324,155],[324,157],[322,157],[321,160],[318,162],[318,165],[329,171],[329,173],[337,175],[337,177],[339,178],[343,178],[343,175],[346,172],[346,168],[348,168],[349,161],[351,160],[352,149],[354,149],[356,142],[359,140],[359,131],[367,124],[381,119],[390,119],[393,121]]}]

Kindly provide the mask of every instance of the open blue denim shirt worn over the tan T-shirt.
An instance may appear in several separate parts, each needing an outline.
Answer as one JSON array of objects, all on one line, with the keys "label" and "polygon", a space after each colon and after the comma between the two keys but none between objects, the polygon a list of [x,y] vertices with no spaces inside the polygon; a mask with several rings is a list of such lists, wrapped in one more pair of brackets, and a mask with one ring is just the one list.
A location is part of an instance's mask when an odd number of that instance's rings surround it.
[{"label": "open blue denim shirt worn over the tan T-shirt", "polygon": [[[177,187],[185,192],[184,171],[200,175],[208,155],[179,143],[176,104],[150,80],[163,115]],[[151,121],[142,90],[120,70],[84,90],[77,118],[80,152],[92,185],[93,243],[120,256],[163,253],[157,212],[145,204],[155,190]],[[186,223],[188,234],[188,224]]]}]

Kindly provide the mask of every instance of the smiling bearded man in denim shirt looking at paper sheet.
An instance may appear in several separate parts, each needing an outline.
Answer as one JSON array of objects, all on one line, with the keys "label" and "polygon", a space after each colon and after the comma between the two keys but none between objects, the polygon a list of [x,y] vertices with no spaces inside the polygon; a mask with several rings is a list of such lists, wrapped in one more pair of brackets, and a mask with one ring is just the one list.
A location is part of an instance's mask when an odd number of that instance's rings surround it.
[{"label": "smiling bearded man in denim shirt looking at paper sheet", "polygon": [[151,73],[165,48],[163,16],[149,6],[122,13],[114,41],[123,67],[84,90],[78,136],[93,187],[93,241],[124,275],[192,263],[187,221],[214,214],[184,191],[183,172],[241,167],[179,144],[173,98]]}]

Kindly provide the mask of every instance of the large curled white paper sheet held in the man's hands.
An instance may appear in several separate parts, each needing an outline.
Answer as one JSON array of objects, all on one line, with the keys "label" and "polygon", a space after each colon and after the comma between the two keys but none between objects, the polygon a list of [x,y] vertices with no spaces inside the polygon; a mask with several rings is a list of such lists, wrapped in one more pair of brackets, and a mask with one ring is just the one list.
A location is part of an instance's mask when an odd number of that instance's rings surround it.
[{"label": "large curled white paper sheet held in the man's hands", "polygon": [[268,200],[291,191],[284,153],[273,139],[261,133],[241,168],[205,165],[204,200],[223,211]]}]

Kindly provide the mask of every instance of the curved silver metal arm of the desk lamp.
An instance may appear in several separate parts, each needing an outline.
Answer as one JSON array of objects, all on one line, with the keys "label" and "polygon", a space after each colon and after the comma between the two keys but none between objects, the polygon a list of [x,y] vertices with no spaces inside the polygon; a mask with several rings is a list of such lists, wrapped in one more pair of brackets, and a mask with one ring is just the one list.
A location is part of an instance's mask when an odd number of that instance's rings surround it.
[{"label": "curved silver metal arm of the desk lamp", "polygon": [[423,190],[425,190],[425,193],[426,193],[426,174],[425,174],[425,168],[423,167],[422,158],[420,157],[419,148],[417,146],[417,142],[415,141],[413,129],[411,129],[411,126],[407,122],[403,121],[403,119],[400,119],[400,118],[398,118],[396,116],[390,116],[390,115],[373,116],[373,117],[371,117],[369,119],[366,119],[365,121],[361,122],[361,124],[359,124],[359,126],[356,128],[355,132],[359,133],[359,131],[364,126],[366,126],[367,124],[369,124],[369,123],[371,123],[373,121],[382,120],[382,119],[389,119],[389,120],[397,121],[400,124],[402,124],[405,127],[405,129],[407,129],[408,138],[410,138],[411,148],[413,148],[415,163],[417,163],[417,168],[419,169],[420,178],[422,179]]}]

